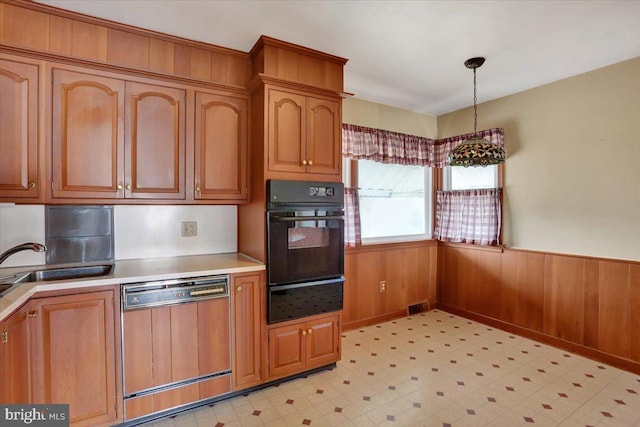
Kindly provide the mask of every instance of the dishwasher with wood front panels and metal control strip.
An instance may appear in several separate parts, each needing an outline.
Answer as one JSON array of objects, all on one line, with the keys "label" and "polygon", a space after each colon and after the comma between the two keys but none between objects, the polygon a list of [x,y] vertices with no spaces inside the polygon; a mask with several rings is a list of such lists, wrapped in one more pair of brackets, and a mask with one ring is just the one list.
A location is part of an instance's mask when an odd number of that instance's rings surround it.
[{"label": "dishwasher with wood front panels and metal control strip", "polygon": [[229,278],[122,287],[125,421],[231,391]]}]

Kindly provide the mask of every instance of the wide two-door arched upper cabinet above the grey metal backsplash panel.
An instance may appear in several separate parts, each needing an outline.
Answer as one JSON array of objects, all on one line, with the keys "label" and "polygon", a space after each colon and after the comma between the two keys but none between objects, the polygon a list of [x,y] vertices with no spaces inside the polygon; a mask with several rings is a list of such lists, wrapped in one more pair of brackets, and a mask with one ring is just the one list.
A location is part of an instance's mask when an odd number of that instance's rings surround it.
[{"label": "wide two-door arched upper cabinet above the grey metal backsplash panel", "polygon": [[185,98],[54,69],[52,197],[184,199]]}]

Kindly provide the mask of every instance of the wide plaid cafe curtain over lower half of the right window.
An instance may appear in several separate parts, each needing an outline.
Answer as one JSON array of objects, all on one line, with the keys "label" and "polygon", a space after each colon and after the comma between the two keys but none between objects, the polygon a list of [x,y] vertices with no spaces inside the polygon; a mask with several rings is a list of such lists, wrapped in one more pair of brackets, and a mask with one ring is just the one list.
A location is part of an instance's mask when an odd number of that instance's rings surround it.
[{"label": "wide plaid cafe curtain over lower half of the right window", "polygon": [[438,191],[434,238],[499,245],[502,189]]}]

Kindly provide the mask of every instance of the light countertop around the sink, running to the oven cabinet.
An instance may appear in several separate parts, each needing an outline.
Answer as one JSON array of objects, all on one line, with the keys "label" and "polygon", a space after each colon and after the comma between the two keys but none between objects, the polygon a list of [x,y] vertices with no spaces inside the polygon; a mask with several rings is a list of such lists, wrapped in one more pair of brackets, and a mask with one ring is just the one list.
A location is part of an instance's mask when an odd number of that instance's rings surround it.
[{"label": "light countertop around the sink, running to the oven cabinet", "polygon": [[[109,264],[112,262],[108,262]],[[216,274],[246,273],[261,271],[265,265],[260,261],[239,253],[190,255],[171,258],[152,258],[113,261],[113,272],[108,276],[74,280],[29,282],[14,286],[0,298],[0,320],[5,319],[36,292],[93,286],[149,282]],[[23,271],[33,271],[54,266],[25,266],[0,268],[0,277]]]}]

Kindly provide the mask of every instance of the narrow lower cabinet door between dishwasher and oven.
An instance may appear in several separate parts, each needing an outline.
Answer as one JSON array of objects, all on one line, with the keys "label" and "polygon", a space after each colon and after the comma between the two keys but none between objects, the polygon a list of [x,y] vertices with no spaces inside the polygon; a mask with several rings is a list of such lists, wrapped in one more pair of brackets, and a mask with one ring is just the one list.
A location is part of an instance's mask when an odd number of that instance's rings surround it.
[{"label": "narrow lower cabinet door between dishwasher and oven", "polygon": [[262,276],[235,276],[231,290],[233,316],[233,389],[261,382],[260,330]]}]

